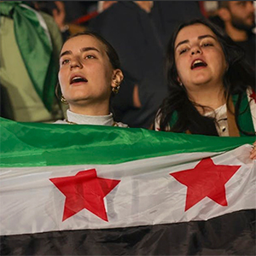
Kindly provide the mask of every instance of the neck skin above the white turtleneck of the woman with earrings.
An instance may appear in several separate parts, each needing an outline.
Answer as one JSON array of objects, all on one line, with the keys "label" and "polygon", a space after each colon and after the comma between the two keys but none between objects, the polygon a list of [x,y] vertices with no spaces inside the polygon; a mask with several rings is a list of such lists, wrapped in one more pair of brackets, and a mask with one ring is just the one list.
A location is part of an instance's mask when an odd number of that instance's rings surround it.
[{"label": "neck skin above the white turtleneck of the woman with earrings", "polygon": [[109,114],[109,104],[95,103],[90,106],[69,104],[69,109],[73,113],[84,115],[99,116]]}]

